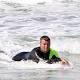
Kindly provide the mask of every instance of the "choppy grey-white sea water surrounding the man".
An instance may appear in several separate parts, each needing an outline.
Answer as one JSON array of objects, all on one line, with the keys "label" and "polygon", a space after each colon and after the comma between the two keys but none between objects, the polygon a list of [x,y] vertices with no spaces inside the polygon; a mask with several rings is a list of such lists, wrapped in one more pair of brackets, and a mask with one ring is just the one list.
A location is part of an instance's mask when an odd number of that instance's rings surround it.
[{"label": "choppy grey-white sea water surrounding the man", "polygon": [[[51,38],[51,48],[71,61],[73,69],[9,67],[6,61],[39,46],[42,35]],[[80,1],[0,0],[0,61],[0,80],[79,80]]]}]

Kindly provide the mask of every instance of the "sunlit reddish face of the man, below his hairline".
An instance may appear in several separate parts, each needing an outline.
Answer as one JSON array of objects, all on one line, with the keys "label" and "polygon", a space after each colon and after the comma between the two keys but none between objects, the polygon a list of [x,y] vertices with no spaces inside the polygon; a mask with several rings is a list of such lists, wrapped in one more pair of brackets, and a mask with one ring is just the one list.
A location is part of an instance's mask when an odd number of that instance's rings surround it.
[{"label": "sunlit reddish face of the man, below his hairline", "polygon": [[50,49],[50,42],[45,41],[44,39],[42,39],[40,41],[40,49],[42,52],[47,53]]}]

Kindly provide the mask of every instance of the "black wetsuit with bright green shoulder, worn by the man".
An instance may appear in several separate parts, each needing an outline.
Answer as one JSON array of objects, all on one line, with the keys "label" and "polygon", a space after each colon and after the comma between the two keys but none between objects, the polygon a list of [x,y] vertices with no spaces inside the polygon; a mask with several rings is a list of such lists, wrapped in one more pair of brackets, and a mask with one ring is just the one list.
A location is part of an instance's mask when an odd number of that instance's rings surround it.
[{"label": "black wetsuit with bright green shoulder, worn by the man", "polygon": [[55,50],[52,50],[50,48],[50,50],[47,53],[43,53],[40,50],[40,47],[34,48],[31,52],[21,52],[21,53],[17,54],[16,56],[14,56],[12,59],[15,61],[33,60],[37,63],[39,62],[40,59],[47,60],[49,63],[52,60],[54,60],[54,61],[60,60],[58,52],[56,52]]}]

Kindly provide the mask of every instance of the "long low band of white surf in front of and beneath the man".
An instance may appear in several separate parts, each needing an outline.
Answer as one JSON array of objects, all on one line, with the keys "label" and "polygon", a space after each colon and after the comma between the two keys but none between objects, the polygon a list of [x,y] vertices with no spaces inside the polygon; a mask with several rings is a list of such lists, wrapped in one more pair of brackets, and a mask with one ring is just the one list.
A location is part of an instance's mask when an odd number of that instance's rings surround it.
[{"label": "long low band of white surf in front of and beneath the man", "polygon": [[[0,53],[1,54],[1,53]],[[3,57],[3,58],[2,58]],[[53,63],[48,64],[45,61],[40,61],[39,63],[33,62],[32,60],[27,61],[13,61],[8,55],[1,54],[0,64],[8,68],[15,69],[49,69],[49,70],[67,70],[73,68],[73,65],[70,61],[69,64]]]}]

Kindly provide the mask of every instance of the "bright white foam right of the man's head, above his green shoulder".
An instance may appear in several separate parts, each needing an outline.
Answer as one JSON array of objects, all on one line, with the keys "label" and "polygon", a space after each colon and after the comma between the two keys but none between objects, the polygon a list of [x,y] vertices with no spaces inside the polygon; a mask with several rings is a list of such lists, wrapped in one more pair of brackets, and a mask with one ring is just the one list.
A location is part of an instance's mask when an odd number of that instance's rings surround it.
[{"label": "bright white foam right of the man's head, above his green shoulder", "polygon": [[51,47],[58,51],[65,51],[72,54],[80,54],[80,41],[78,39],[62,39],[53,40]]}]

